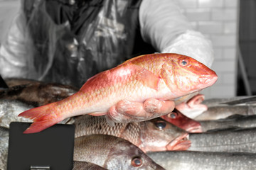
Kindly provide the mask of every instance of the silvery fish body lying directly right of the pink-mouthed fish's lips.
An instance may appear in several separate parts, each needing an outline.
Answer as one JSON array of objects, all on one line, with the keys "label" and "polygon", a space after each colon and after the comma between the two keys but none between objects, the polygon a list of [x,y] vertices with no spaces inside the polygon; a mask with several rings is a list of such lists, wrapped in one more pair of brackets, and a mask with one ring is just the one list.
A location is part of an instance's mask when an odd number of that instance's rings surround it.
[{"label": "silvery fish body lying directly right of the pink-mouthed fish's lips", "polygon": [[229,128],[189,135],[188,150],[256,153],[256,128]]}]

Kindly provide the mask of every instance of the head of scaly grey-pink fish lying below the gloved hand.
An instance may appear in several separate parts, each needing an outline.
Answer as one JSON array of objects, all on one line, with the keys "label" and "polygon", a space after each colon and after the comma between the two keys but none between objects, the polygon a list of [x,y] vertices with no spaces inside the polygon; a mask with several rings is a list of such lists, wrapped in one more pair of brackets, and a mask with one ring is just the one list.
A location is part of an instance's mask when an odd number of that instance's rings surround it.
[{"label": "head of scaly grey-pink fish lying below the gloved hand", "polygon": [[142,130],[142,147],[144,152],[166,150],[186,150],[191,146],[188,141],[188,132],[172,125],[161,118],[147,120]]}]

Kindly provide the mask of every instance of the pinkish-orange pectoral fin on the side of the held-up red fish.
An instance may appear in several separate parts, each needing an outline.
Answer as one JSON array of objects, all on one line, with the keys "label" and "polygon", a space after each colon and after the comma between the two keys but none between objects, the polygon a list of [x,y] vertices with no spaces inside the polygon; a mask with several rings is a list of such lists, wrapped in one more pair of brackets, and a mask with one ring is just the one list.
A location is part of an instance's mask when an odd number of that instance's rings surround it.
[{"label": "pinkish-orange pectoral fin on the side of the held-up red fish", "polygon": [[154,73],[136,64],[132,64],[132,67],[137,69],[136,79],[141,81],[144,86],[148,86],[149,88],[155,90],[159,89],[160,77],[157,77]]}]

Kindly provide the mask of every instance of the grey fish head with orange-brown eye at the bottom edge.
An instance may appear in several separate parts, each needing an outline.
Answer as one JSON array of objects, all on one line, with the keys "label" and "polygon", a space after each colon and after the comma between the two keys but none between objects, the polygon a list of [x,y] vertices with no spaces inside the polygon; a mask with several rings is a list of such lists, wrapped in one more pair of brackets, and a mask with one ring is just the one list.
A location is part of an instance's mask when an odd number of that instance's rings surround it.
[{"label": "grey fish head with orange-brown eye at the bottom edge", "polygon": [[127,140],[118,142],[107,155],[105,161],[106,169],[159,169],[164,170],[156,164],[142,149]]}]

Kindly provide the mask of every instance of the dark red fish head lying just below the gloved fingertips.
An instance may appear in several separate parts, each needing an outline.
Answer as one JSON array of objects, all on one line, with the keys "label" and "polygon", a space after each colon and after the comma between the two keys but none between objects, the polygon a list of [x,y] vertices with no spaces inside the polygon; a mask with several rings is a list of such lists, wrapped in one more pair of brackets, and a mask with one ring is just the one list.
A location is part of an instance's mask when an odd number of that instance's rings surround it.
[{"label": "dark red fish head lying just below the gloved fingertips", "polygon": [[186,117],[176,108],[167,115],[162,115],[161,118],[169,123],[176,125],[178,128],[186,130],[187,132],[202,132],[201,124],[196,120]]}]

